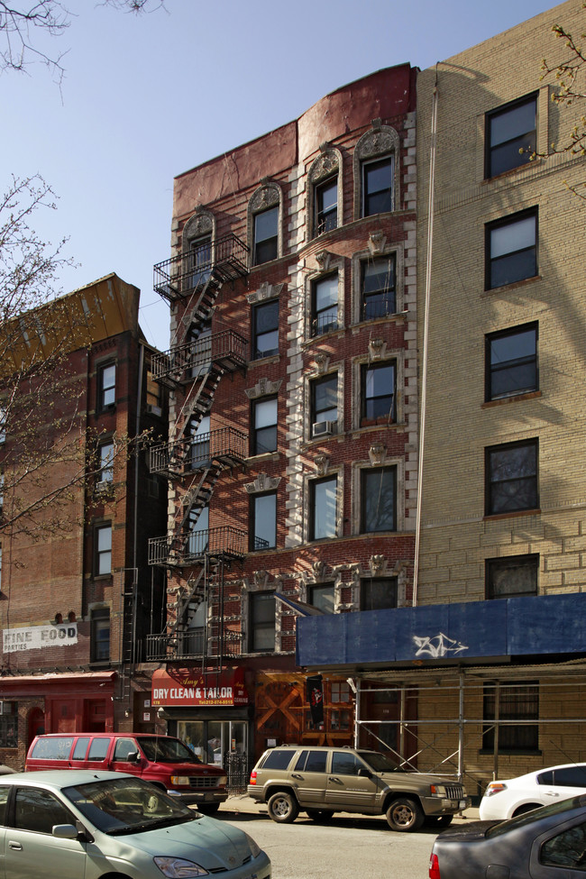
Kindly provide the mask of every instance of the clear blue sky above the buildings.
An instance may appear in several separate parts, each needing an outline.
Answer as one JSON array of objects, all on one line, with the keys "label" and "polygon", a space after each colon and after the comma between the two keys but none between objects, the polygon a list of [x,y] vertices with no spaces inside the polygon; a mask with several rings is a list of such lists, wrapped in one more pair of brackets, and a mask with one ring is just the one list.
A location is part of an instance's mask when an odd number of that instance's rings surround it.
[{"label": "clear blue sky above the buildings", "polygon": [[[61,89],[41,65],[0,76],[0,182],[41,173],[60,197],[38,233],[69,236],[60,292],[115,271],[169,346],[152,265],[169,257],[173,178],[295,119],[374,70],[425,69],[551,8],[492,0],[165,0],[135,17],[70,0]],[[166,10],[166,11],[165,11]]]}]

